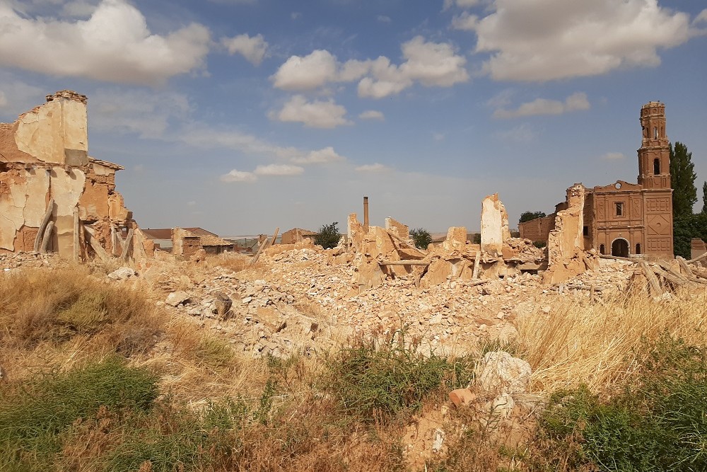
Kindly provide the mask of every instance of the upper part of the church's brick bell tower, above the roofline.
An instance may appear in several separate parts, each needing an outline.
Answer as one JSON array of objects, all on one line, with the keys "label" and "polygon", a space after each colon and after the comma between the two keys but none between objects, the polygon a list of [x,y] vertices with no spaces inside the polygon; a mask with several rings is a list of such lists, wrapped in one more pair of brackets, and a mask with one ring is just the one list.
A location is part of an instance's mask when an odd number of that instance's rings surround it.
[{"label": "upper part of the church's brick bell tower, above the roofline", "polygon": [[671,188],[670,141],[665,134],[665,104],[648,102],[641,107],[643,140],[638,149],[638,183],[645,189]]}]

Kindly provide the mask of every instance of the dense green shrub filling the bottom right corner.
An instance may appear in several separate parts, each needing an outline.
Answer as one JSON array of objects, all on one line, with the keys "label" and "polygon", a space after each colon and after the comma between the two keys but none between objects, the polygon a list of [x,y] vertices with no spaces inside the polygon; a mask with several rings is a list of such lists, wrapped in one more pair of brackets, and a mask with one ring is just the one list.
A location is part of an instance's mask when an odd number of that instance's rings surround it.
[{"label": "dense green shrub filling the bottom right corner", "polygon": [[707,470],[706,351],[667,335],[647,351],[636,386],[609,401],[586,387],[552,396],[541,431],[574,466]]}]

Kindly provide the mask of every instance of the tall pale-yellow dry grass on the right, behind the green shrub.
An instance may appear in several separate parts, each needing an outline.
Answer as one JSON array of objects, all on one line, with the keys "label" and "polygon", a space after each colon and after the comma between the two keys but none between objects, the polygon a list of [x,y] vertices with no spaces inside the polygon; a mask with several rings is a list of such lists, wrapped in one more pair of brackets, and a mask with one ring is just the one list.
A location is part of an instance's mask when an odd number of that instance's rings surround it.
[{"label": "tall pale-yellow dry grass on the right, behind the green shrub", "polygon": [[661,333],[704,345],[707,291],[682,291],[654,301],[619,294],[604,302],[564,299],[549,314],[539,309],[517,321],[518,349],[533,368],[532,388],[551,392],[580,383],[593,391],[631,378],[641,348]]}]

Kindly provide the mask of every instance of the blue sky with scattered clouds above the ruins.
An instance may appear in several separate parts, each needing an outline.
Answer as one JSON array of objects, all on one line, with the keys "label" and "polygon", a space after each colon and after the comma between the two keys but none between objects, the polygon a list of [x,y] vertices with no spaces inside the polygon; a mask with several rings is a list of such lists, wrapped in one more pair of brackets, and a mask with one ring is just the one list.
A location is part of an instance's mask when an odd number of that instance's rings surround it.
[{"label": "blue sky with scattered clouds above the ruins", "polygon": [[706,59],[703,0],[0,0],[0,121],[86,94],[144,227],[474,231],[635,182],[650,100],[701,188]]}]

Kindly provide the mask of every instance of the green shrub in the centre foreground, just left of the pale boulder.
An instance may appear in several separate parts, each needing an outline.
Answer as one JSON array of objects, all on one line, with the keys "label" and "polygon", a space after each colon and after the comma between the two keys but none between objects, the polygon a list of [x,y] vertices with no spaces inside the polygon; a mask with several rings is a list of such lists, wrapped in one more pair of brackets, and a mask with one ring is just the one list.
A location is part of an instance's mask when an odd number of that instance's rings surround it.
[{"label": "green shrub in the centre foreground, just left of the pale boulder", "polygon": [[443,385],[467,386],[469,365],[464,359],[450,362],[403,347],[378,348],[374,341],[359,341],[327,359],[325,390],[335,396],[346,415],[367,422],[378,415],[390,420],[397,413],[418,410]]}]

